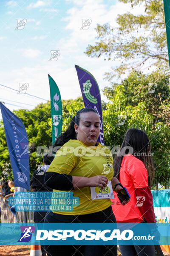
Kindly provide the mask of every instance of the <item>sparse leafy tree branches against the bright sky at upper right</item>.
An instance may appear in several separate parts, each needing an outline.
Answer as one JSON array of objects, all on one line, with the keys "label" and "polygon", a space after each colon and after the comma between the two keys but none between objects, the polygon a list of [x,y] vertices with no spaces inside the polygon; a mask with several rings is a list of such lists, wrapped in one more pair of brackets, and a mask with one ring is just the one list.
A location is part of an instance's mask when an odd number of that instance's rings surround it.
[{"label": "sparse leafy tree branches against the bright sky at upper right", "polygon": [[[119,0],[144,8],[144,14],[133,15],[127,12],[117,15],[117,27],[109,24],[97,25],[96,43],[88,45],[85,54],[90,57],[102,57],[113,60],[113,52],[122,52],[122,62],[119,66],[105,73],[110,80],[116,74],[121,76],[126,71],[150,70],[155,66],[161,73],[169,72],[166,30],[164,22],[164,7],[162,0]],[[144,66],[145,64],[145,66]],[[144,66],[144,67],[143,67]]]}]

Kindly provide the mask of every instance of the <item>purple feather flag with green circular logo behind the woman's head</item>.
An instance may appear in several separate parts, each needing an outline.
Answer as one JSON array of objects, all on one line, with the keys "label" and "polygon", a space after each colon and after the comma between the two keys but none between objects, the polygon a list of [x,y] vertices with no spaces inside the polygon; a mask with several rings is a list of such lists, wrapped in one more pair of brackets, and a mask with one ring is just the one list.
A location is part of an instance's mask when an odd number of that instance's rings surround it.
[{"label": "purple feather flag with green circular logo behind the woman's head", "polygon": [[77,76],[79,79],[79,85],[82,92],[82,98],[85,104],[85,108],[94,108],[100,117],[100,134],[97,141],[104,145],[103,138],[103,125],[102,125],[102,104],[100,97],[100,90],[96,79],[90,72],[75,65],[77,70]]}]

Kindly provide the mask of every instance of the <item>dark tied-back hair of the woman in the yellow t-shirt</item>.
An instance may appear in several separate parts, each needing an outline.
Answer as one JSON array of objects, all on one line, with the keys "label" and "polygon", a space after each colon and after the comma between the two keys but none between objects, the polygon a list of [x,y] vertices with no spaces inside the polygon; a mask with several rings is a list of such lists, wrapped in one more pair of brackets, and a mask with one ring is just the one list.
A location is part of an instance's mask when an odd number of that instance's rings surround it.
[{"label": "dark tied-back hair of the woman in the yellow t-shirt", "polygon": [[77,111],[76,115],[71,119],[70,125],[68,126],[67,130],[62,132],[57,137],[53,147],[62,146],[66,142],[68,142],[68,140],[76,140],[76,135],[77,134],[76,134],[75,129],[74,129],[74,124],[79,125],[80,114],[81,113],[88,113],[88,112],[97,113],[97,111],[94,110],[93,108],[82,108],[82,109],[79,109]]}]

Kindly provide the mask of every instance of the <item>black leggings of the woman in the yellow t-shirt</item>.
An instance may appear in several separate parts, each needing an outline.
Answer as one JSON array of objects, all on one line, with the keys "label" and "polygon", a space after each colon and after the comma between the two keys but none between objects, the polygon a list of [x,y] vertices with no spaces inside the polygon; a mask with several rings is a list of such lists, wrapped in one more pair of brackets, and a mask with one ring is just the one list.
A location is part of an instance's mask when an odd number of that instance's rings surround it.
[{"label": "black leggings of the woman in the yellow t-shirt", "polygon": [[[44,222],[104,223],[116,222],[116,218],[112,208],[108,207],[101,212],[85,215],[62,215],[47,212]],[[117,245],[45,245],[45,250],[48,256],[117,256]]]}]

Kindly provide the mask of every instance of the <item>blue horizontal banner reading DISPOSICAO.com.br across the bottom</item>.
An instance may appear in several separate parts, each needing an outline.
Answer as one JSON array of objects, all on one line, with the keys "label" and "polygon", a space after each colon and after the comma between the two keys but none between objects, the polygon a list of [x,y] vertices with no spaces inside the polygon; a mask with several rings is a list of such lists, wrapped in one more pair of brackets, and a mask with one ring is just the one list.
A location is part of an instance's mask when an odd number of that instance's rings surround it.
[{"label": "blue horizontal banner reading DISPOSICAO.com.br across the bottom", "polygon": [[159,232],[151,228],[152,223],[1,223],[0,245],[170,244],[170,224],[158,224]]}]

